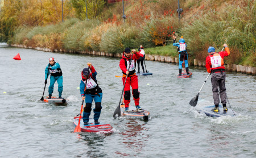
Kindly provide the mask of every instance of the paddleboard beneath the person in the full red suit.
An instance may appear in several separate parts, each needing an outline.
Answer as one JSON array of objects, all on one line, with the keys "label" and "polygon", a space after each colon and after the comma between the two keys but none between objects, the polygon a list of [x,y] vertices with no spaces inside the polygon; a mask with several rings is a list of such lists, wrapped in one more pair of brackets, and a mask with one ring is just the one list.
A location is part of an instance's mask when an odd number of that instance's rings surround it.
[{"label": "paddleboard beneath the person in the full red suit", "polygon": [[129,106],[129,111],[125,111],[125,105],[121,105],[121,115],[124,117],[139,118],[148,120],[150,113],[144,109],[137,110],[135,106]]}]

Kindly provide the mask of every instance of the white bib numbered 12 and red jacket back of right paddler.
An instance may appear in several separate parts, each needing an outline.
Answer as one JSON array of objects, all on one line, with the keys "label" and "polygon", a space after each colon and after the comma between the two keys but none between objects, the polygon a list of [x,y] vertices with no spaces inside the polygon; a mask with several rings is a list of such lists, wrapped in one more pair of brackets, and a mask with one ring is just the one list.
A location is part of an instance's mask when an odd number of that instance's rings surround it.
[{"label": "white bib numbered 12 and red jacket back of right paddler", "polygon": [[211,70],[225,69],[224,60],[218,52],[212,53],[210,56]]}]

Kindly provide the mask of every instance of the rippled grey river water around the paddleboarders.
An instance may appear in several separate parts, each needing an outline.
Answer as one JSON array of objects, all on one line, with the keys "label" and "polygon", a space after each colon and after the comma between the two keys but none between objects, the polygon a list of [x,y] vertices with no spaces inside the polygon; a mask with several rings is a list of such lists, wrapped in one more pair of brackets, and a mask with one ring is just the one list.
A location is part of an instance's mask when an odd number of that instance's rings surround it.
[{"label": "rippled grey river water around the paddleboarders", "polygon": [[[17,53],[22,60],[13,60]],[[63,70],[67,106],[40,101],[49,57]],[[123,87],[115,77],[121,76],[120,59],[6,45],[0,45],[0,59],[0,157],[256,157],[255,76],[228,73],[229,102],[239,115],[210,118],[189,105],[208,75],[205,68],[191,68],[192,78],[176,78],[176,64],[146,61],[153,75],[139,76],[140,105],[151,114],[144,122],[113,119]],[[77,88],[88,62],[103,91],[99,121],[111,124],[112,134],[73,133],[72,119],[81,108]],[[210,78],[199,97],[213,101]]]}]

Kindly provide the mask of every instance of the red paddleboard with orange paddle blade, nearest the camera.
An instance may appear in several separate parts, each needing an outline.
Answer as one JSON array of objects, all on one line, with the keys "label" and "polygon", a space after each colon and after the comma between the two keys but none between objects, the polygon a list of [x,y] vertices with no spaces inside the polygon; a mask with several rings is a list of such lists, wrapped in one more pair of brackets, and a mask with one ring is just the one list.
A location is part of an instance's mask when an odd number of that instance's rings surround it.
[{"label": "red paddleboard with orange paddle blade, nearest the camera", "polygon": [[[75,117],[73,119],[73,124],[75,127],[79,123],[79,117]],[[105,124],[100,121],[100,124],[94,124],[94,119],[89,118],[89,124],[84,126],[84,122],[82,121],[82,118],[80,120],[80,127],[81,132],[100,132],[100,131],[106,131],[109,132],[112,130],[112,126],[110,124]]]}]

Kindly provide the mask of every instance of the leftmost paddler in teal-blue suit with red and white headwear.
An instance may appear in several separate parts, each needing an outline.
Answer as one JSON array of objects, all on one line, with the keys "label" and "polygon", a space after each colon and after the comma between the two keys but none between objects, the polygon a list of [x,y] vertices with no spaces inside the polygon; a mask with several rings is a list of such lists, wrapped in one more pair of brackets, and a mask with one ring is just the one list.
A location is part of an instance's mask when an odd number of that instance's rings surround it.
[{"label": "leftmost paddler in teal-blue suit with red and white headwear", "polygon": [[44,70],[46,76],[44,77],[44,84],[47,84],[47,78],[49,73],[51,74],[50,77],[50,85],[48,88],[49,92],[49,98],[52,98],[53,88],[54,84],[57,81],[58,83],[58,92],[59,92],[59,98],[61,98],[61,94],[63,91],[63,77],[62,77],[62,71],[60,68],[60,64],[55,62],[55,59],[53,57],[49,58],[49,64],[46,66],[46,70]]}]

